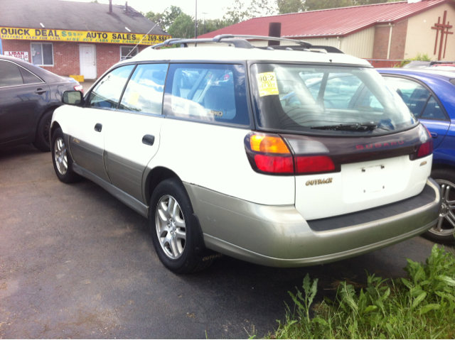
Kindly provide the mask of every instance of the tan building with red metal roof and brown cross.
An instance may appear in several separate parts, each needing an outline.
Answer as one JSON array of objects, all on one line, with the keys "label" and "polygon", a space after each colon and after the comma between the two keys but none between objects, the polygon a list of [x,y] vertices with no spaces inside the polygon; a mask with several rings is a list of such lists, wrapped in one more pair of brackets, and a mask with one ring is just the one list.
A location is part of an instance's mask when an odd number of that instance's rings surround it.
[{"label": "tan building with red metal roof and brown cross", "polygon": [[365,59],[404,60],[426,53],[432,60],[455,60],[454,0],[409,0],[252,18],[198,38],[268,35],[269,23],[282,23],[282,38],[333,46]]}]

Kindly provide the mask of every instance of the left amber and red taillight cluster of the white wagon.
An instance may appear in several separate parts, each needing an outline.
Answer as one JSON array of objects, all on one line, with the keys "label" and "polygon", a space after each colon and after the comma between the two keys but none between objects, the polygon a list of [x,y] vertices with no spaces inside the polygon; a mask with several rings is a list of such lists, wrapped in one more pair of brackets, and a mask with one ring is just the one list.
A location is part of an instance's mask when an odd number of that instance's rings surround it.
[{"label": "left amber and red taillight cluster of the white wagon", "polygon": [[[306,143],[305,143],[306,142]],[[328,149],[317,141],[284,140],[281,136],[248,133],[245,149],[256,172],[274,175],[302,175],[336,170]]]}]

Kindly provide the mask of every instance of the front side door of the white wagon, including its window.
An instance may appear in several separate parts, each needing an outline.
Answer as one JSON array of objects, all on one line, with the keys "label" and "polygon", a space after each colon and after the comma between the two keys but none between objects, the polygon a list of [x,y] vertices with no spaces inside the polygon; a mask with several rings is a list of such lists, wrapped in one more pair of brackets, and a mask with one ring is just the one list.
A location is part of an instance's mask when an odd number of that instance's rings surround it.
[{"label": "front side door of the white wagon, including its window", "polygon": [[75,108],[70,124],[70,149],[75,163],[107,182],[105,131],[133,69],[134,65],[125,65],[105,75],[87,94],[85,107]]}]

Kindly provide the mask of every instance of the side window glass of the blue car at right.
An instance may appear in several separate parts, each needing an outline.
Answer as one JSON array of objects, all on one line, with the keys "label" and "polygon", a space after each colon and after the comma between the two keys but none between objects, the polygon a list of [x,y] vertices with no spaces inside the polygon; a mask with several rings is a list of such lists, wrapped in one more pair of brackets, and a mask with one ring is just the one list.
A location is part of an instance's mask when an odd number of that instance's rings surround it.
[{"label": "side window glass of the blue car at right", "polygon": [[390,85],[402,97],[403,102],[410,108],[417,118],[446,119],[434,95],[428,89],[411,79],[398,77],[384,77]]}]

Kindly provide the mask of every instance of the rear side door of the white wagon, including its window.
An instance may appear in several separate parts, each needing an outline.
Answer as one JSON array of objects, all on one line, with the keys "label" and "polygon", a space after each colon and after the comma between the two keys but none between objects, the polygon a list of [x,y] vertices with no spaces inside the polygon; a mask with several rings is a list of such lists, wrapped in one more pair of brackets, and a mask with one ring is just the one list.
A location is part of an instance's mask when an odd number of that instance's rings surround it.
[{"label": "rear side door of the white wagon, including its window", "polygon": [[112,185],[145,202],[142,176],[159,148],[167,64],[137,65],[119,109],[110,113],[105,162]]}]

